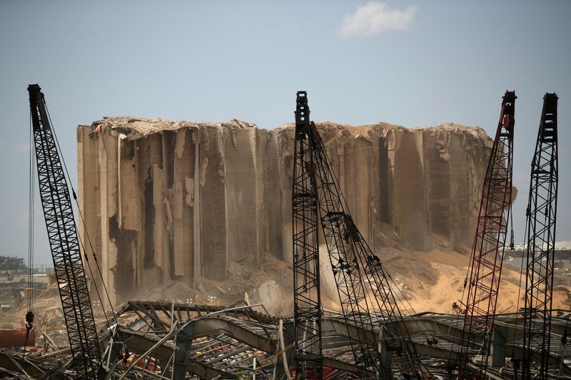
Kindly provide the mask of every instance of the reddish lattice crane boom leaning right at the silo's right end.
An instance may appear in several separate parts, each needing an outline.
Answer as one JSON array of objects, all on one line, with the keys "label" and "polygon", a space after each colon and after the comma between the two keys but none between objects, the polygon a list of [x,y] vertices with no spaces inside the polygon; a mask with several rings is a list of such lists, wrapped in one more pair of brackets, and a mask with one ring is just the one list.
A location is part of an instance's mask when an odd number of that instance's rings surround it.
[{"label": "reddish lattice crane boom leaning right at the silo's right end", "polygon": [[[477,372],[485,374],[487,355],[494,325],[497,293],[502,274],[502,260],[507,236],[507,222],[512,201],[512,157],[515,91],[506,91],[502,101],[490,161],[482,190],[466,292],[463,336],[460,343],[460,377],[472,375],[468,366],[468,346],[476,336],[483,338],[482,364]],[[468,281],[469,278],[469,281]]]}]

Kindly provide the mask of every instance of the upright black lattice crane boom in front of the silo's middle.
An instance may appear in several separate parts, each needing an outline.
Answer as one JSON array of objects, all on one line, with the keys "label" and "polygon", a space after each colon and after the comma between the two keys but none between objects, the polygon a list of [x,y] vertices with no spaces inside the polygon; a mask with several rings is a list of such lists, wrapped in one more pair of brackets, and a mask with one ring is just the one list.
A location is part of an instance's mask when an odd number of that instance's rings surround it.
[{"label": "upright black lattice crane boom in front of the silo's middle", "polygon": [[321,379],[321,297],[319,279],[318,195],[313,163],[306,96],[295,110],[295,162],[293,166],[293,315],[295,324],[295,375]]}]

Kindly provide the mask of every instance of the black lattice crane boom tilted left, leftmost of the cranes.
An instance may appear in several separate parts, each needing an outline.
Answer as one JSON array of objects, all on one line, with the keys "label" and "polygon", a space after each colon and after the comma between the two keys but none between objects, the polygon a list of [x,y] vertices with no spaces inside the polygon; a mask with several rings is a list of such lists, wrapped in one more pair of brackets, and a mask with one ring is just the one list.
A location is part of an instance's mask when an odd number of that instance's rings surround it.
[{"label": "black lattice crane boom tilted left, leftmost of the cranes", "polygon": [[28,91],[39,193],[74,369],[79,379],[98,379],[101,353],[59,145],[40,86],[31,84]]}]

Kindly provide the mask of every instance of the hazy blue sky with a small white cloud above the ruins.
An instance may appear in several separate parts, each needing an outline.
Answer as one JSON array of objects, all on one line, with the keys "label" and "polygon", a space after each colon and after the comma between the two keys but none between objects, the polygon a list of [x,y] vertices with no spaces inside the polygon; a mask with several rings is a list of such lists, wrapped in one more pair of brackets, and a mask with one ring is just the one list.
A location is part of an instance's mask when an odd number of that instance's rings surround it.
[{"label": "hazy blue sky with a small white cloud above the ruins", "polygon": [[[0,254],[27,255],[29,83],[46,95],[74,184],[76,125],[103,115],[274,128],[293,122],[306,90],[316,121],[493,134],[515,90],[516,240],[542,98],[556,92],[557,240],[571,240],[570,17],[564,0],[1,1]],[[51,262],[39,207],[35,225],[36,262]]]}]

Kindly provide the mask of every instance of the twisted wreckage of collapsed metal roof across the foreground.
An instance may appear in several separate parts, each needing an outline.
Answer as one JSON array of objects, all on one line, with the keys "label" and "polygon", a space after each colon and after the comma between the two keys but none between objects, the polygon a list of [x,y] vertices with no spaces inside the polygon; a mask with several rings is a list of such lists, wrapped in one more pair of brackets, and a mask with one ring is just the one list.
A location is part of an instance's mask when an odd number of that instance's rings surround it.
[{"label": "twisted wreckage of collapsed metal roof across the foreground", "polygon": [[[174,302],[128,302],[116,312],[118,324],[100,332],[100,345],[106,352],[104,366],[110,379],[186,379],[187,374],[200,379],[285,379],[284,365],[291,363],[293,321],[271,317],[263,305],[235,304],[211,307]],[[391,329],[382,317],[374,334]],[[445,376],[448,363],[458,359],[458,341],[463,317],[458,314],[422,313],[405,317],[404,322],[423,364],[435,376]],[[552,328],[550,361],[561,366],[562,375],[571,378],[571,352],[565,352],[562,337],[568,329],[569,315],[557,317]],[[517,356],[522,350],[522,317],[518,313],[500,314],[496,325],[502,334],[504,354]],[[281,327],[281,328],[280,328]],[[323,316],[323,353],[326,379],[357,379],[358,372],[348,342],[353,326],[345,324],[336,312]],[[110,346],[111,334],[114,334]],[[69,349],[59,349],[44,337],[44,349],[37,352],[0,350],[0,373],[9,378],[72,379],[73,361]],[[499,344],[500,342],[498,342]],[[391,342],[380,339],[388,351]],[[482,342],[475,341],[470,354],[477,360]],[[492,346],[493,346],[492,342]],[[121,354],[127,352],[124,360]],[[562,363],[561,357],[564,354]],[[395,356],[398,357],[398,356]],[[395,366],[397,368],[397,366]],[[512,376],[507,363],[490,369],[497,379]],[[556,374],[554,374],[555,376]]]}]

